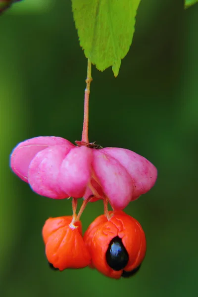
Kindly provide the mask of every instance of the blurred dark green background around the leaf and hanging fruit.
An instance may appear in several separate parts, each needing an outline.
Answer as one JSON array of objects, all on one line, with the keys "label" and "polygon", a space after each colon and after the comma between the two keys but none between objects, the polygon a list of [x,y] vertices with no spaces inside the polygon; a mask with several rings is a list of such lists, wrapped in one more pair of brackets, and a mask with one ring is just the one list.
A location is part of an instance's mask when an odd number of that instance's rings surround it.
[{"label": "blurred dark green background around the leaf and hanging fruit", "polygon": [[[0,16],[0,296],[196,297],[198,4],[142,0],[119,76],[93,67],[90,141],[134,150],[158,169],[155,187],[126,208],[148,243],[131,279],[51,271],[41,230],[49,216],[71,214],[71,202],[34,194],[9,169],[25,139],[81,139],[86,67],[70,0],[24,0]],[[84,230],[102,210],[88,205]]]}]

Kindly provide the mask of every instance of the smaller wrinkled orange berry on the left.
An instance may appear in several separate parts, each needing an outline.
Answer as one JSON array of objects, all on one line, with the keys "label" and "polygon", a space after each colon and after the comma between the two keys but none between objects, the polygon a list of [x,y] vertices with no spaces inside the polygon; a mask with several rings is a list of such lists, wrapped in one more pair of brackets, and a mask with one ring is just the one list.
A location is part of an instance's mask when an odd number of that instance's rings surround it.
[{"label": "smaller wrinkled orange berry on the left", "polygon": [[71,223],[72,216],[49,218],[43,227],[43,239],[49,265],[60,271],[84,268],[91,263],[90,253],[82,237],[80,221]]}]

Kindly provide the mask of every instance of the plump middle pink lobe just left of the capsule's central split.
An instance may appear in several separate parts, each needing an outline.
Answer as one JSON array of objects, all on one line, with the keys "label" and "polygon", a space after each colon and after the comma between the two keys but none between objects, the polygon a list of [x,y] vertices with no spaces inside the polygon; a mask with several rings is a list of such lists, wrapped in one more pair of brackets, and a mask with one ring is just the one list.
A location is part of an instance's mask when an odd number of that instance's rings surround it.
[{"label": "plump middle pink lobe just left of the capsule's central split", "polygon": [[72,148],[63,160],[59,173],[59,185],[73,198],[83,197],[91,179],[92,149]]}]

